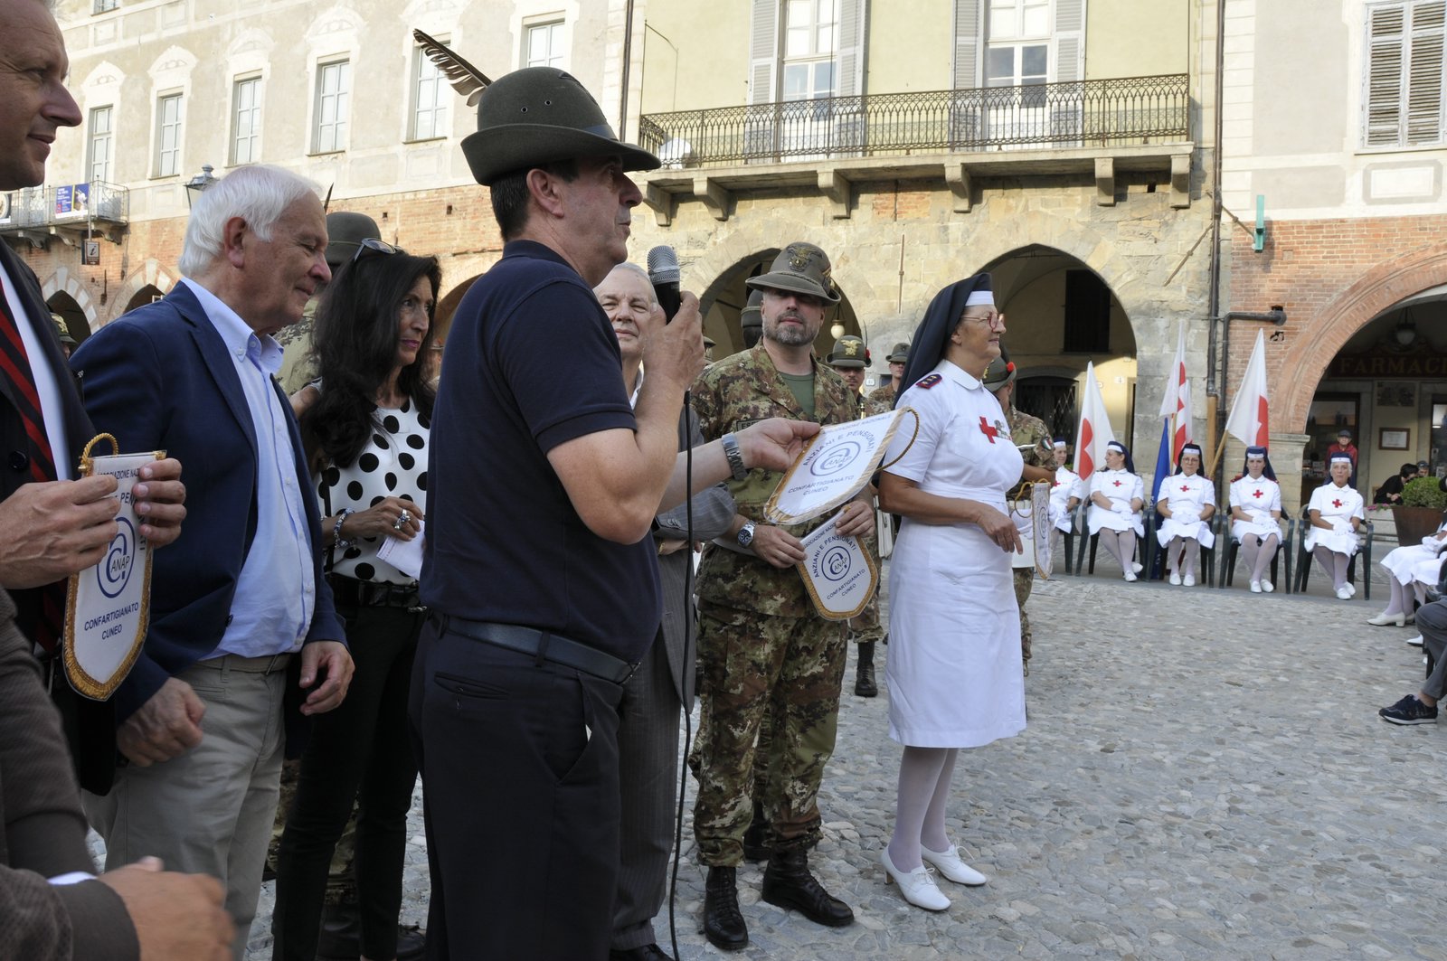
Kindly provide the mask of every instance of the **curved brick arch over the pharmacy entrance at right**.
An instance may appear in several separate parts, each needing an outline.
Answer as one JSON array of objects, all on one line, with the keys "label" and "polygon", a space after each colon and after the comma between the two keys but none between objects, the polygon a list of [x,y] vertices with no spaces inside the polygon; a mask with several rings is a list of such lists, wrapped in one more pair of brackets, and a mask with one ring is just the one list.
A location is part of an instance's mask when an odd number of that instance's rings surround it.
[{"label": "curved brick arch over the pharmacy entrance at right", "polygon": [[1281,371],[1291,372],[1272,423],[1301,430],[1331,359],[1343,344],[1373,318],[1420,291],[1447,282],[1447,243],[1411,250],[1376,265],[1351,287],[1311,314],[1302,324],[1310,336],[1294,337]]}]

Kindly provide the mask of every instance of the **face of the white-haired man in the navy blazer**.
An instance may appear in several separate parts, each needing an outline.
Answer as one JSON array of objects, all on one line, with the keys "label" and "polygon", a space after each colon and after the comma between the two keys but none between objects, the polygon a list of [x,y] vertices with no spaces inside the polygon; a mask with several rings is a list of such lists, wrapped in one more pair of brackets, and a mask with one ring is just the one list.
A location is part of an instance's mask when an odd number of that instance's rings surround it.
[{"label": "face of the white-haired man in the navy blazer", "polygon": [[[236,223],[227,224],[229,232]],[[233,263],[243,275],[245,302],[237,313],[256,333],[295,324],[317,288],[331,279],[321,201],[311,194],[295,201],[272,224],[271,240],[262,240],[250,227],[240,229],[240,256],[233,255]]]}]

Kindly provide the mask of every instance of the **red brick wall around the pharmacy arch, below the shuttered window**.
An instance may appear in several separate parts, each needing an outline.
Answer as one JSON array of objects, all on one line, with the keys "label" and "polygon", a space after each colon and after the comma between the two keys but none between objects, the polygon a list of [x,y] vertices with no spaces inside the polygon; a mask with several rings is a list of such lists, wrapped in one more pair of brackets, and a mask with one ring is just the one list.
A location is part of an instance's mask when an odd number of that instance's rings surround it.
[{"label": "red brick wall around the pharmacy arch, below the shuttered window", "polygon": [[[1447,282],[1447,214],[1268,221],[1266,249],[1230,226],[1230,289],[1221,313],[1286,310],[1285,327],[1231,321],[1227,402],[1266,330],[1272,430],[1305,430],[1311,397],[1331,357],[1373,317]],[[1273,334],[1281,340],[1270,340]]]}]

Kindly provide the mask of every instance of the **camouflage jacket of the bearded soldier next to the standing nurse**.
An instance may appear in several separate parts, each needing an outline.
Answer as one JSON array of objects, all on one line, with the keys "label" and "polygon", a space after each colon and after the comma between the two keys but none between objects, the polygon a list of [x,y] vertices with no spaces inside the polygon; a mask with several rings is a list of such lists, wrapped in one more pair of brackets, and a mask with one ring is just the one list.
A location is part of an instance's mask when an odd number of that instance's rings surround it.
[{"label": "camouflage jacket of the bearded soldier next to the standing nurse", "polygon": [[[818,360],[813,362],[813,420],[819,424],[845,424],[855,420],[858,408],[849,399],[849,388],[839,375]],[[709,440],[770,417],[809,420],[799,410],[789,385],[778,376],[764,342],[705,371],[693,385],[693,412],[697,414],[699,427]],[[750,470],[744,480],[729,480],[728,491],[734,495],[738,512],[755,524],[764,524],[764,505],[781,478],[781,473],[773,470]],[[803,538],[825,520],[816,518],[784,530]],[[752,554],[718,546],[710,546],[703,554],[697,596],[705,604],[758,614],[797,618],[815,612],[803,579],[794,567],[774,567]]]}]

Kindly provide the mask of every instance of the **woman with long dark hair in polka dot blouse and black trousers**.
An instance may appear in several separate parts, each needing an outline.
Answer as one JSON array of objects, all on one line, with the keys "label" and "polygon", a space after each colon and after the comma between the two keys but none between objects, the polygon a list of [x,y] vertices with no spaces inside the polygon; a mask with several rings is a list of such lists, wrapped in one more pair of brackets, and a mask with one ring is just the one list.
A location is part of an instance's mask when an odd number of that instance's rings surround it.
[{"label": "woman with long dark hair in polka dot blouse and black trousers", "polygon": [[301,760],[278,851],[273,961],[317,957],[327,870],[353,802],[362,957],[396,958],[407,812],[417,782],[407,698],[425,611],[417,593],[420,563],[405,560],[407,551],[388,551],[423,531],[440,285],[437,258],[363,242],[317,308],[320,379],[294,398],[321,499],[327,582],[356,673],[341,706],[315,718]]}]

